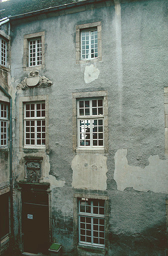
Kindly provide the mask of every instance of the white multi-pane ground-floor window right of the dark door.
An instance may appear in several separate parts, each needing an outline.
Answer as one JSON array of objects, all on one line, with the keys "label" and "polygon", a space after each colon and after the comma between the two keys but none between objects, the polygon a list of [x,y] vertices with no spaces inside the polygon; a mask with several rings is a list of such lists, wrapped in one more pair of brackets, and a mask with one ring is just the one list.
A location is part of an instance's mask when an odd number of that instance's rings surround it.
[{"label": "white multi-pane ground-floor window right of the dark door", "polygon": [[105,246],[105,201],[81,198],[78,202],[79,243]]}]

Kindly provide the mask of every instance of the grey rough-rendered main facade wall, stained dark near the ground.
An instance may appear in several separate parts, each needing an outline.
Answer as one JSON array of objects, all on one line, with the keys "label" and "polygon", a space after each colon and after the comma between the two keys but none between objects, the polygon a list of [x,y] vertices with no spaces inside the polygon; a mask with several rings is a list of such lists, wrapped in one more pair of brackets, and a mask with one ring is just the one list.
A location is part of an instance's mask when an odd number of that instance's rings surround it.
[{"label": "grey rough-rendered main facade wall, stained dark near the ground", "polygon": [[[166,253],[166,7],[164,0],[116,2],[67,15],[36,16],[34,20],[12,26],[14,115],[18,116],[20,96],[48,94],[49,97],[47,155],[40,150],[19,151],[20,120],[15,122],[15,181],[23,178],[24,155],[38,154],[47,159],[48,173],[44,179],[51,183],[52,239],[63,245],[65,255],[76,255],[73,253],[73,193],[84,191],[109,196],[108,255]],[[102,22],[102,61],[76,64],[75,27],[96,21]],[[23,35],[44,30],[45,68],[39,74],[52,80],[53,85],[17,90],[16,85],[28,75],[22,68]],[[91,64],[100,73],[88,83],[84,73]],[[92,71],[93,66],[88,68]],[[83,189],[81,180],[77,187],[73,180],[78,171],[75,164],[83,168],[89,158],[95,160],[95,154],[76,155],[73,151],[72,93],[97,90],[108,91],[109,149],[105,155],[98,155],[102,160],[107,157],[107,165],[103,166],[107,181],[101,190],[99,186],[94,190],[87,186]],[[15,205],[16,236],[17,215]]]}]

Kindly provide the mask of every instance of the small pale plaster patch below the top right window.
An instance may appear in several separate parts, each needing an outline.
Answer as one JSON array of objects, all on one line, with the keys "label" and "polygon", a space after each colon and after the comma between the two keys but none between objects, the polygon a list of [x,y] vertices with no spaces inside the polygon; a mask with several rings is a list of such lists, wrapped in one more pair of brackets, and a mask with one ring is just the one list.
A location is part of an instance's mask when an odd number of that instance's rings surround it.
[{"label": "small pale plaster patch below the top right window", "polygon": [[98,78],[100,70],[93,64],[85,67],[84,80],[86,83],[92,82]]}]

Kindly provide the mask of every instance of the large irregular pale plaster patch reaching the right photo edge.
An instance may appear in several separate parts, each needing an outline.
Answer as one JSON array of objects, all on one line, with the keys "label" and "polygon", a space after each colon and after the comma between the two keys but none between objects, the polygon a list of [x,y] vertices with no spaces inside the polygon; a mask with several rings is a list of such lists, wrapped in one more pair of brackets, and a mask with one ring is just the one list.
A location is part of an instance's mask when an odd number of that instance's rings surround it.
[{"label": "large irregular pale plaster patch reaching the right photo edge", "polygon": [[149,165],[145,168],[131,166],[127,160],[127,149],[118,149],[115,153],[114,179],[118,190],[133,187],[139,191],[168,193],[168,159],[162,160],[159,155],[150,155]]}]

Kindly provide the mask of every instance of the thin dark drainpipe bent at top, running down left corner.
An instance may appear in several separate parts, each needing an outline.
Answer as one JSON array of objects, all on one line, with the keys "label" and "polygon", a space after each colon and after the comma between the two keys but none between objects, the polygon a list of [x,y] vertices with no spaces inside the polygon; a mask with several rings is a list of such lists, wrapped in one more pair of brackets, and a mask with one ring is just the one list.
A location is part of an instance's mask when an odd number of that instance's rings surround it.
[{"label": "thin dark drainpipe bent at top, running down left corner", "polygon": [[10,127],[10,146],[9,146],[9,182],[10,182],[10,229],[11,237],[13,237],[13,178],[12,178],[12,98],[8,92],[0,85],[0,90],[10,100],[10,116],[9,116],[9,127]]}]

